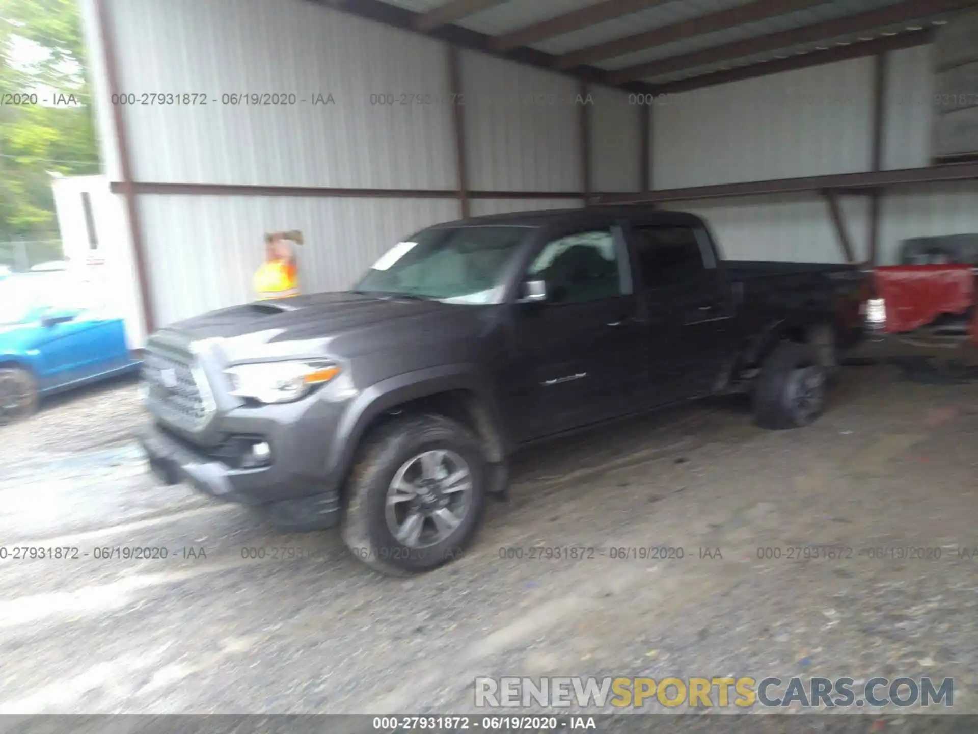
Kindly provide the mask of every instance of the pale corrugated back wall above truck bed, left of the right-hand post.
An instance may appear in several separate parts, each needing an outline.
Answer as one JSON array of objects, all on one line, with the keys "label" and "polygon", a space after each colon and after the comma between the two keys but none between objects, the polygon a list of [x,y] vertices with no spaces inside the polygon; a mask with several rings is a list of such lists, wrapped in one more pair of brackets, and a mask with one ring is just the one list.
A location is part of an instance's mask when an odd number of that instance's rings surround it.
[{"label": "pale corrugated back wall above truck bed, left of the right-hand post", "polygon": [[[868,170],[872,62],[856,59],[695,90],[653,108],[656,189]],[[801,195],[670,203],[706,216],[728,257],[839,262],[821,198]],[[868,202],[844,199],[857,256]]]}]

